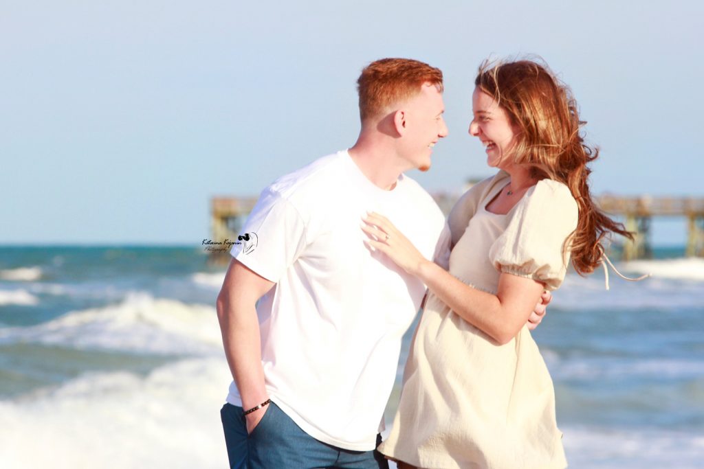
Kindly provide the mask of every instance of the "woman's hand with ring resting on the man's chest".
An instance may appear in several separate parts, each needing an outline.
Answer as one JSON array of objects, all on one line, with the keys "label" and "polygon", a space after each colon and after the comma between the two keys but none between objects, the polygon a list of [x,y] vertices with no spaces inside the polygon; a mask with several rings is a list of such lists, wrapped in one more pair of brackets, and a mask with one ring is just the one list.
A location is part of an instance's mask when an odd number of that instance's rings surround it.
[{"label": "woman's hand with ring resting on the man's chest", "polygon": [[389,256],[389,259],[408,272],[408,274],[417,276],[422,264],[430,262],[383,215],[372,212],[367,214],[363,222],[362,230],[369,236],[365,243]]}]

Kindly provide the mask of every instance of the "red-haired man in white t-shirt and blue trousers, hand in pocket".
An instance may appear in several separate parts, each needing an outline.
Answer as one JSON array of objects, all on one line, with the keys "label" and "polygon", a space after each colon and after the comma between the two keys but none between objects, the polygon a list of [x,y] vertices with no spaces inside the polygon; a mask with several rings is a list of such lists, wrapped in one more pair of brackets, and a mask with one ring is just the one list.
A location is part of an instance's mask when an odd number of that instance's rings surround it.
[{"label": "red-haired man in white t-shirt and blue trousers, hand in pocket", "polygon": [[442,213],[403,172],[428,169],[448,130],[437,68],[377,60],[358,90],[355,145],[266,188],[244,227],[256,248],[232,249],[218,319],[233,468],[388,467],[375,447],[425,285],[368,250],[360,224],[380,212],[425,257],[447,251]]}]

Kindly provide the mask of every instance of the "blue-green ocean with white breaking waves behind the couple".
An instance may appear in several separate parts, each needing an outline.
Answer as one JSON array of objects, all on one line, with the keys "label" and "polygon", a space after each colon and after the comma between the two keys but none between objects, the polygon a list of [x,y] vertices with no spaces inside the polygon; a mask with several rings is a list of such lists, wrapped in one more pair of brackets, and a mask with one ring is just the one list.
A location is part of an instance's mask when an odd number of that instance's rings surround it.
[{"label": "blue-green ocean with white breaking waves behind the couple", "polygon": [[[568,274],[534,332],[571,468],[703,467],[704,259]],[[0,247],[0,467],[223,468],[227,368],[201,247]],[[393,417],[403,361],[386,411]]]}]

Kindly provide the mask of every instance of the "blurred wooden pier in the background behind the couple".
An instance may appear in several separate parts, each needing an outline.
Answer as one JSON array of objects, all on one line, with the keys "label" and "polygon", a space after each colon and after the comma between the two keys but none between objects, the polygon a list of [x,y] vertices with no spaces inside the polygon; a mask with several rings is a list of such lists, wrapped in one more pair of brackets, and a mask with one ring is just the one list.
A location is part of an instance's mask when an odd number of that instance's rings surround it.
[{"label": "blurred wooden pier in the background behind the couple", "polygon": [[[453,193],[432,193],[447,215],[457,200]],[[684,217],[687,220],[686,256],[704,257],[704,198],[693,197],[623,197],[601,195],[596,203],[604,212],[624,219],[629,231],[636,232],[633,242],[622,240],[622,259],[642,259],[653,255],[650,227],[653,217]],[[213,241],[237,240],[244,221],[256,204],[256,198],[216,197],[210,202]],[[210,262],[229,262],[225,250],[210,252]]]}]

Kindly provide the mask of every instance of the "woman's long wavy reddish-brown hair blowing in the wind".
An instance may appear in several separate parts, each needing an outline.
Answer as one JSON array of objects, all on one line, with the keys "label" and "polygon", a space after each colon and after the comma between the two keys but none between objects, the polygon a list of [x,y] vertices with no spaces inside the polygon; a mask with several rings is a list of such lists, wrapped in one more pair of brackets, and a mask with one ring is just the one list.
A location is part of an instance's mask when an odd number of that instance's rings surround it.
[{"label": "woman's long wavy reddish-brown hair blowing in the wind", "polygon": [[479,65],[474,85],[492,96],[520,128],[508,158],[527,165],[536,179],[553,179],[570,188],[577,200],[579,221],[570,237],[572,265],[590,274],[601,263],[602,241],[609,233],[632,239],[633,233],[596,207],[589,193],[587,164],[599,150],[584,143],[577,102],[570,88],[544,63],[534,60]]}]

